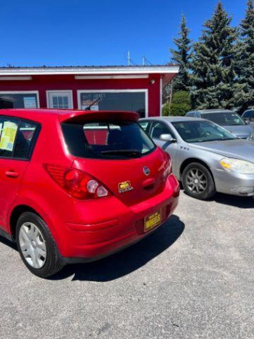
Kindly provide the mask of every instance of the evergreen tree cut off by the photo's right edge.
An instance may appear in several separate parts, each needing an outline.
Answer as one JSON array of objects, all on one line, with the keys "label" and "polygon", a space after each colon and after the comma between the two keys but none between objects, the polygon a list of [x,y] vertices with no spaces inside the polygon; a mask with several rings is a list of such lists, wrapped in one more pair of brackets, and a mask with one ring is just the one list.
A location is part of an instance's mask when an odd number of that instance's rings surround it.
[{"label": "evergreen tree cut off by the photo's right edge", "polygon": [[239,91],[236,93],[236,105],[241,111],[254,106],[254,2],[248,0],[246,16],[240,23],[240,41],[237,45],[236,81]]}]

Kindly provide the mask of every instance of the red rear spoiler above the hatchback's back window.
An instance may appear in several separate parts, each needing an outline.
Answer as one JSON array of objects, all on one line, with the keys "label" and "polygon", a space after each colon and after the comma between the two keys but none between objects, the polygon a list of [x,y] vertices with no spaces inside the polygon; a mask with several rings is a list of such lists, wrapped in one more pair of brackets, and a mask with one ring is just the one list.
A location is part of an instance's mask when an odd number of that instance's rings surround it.
[{"label": "red rear spoiler above the hatchback's back window", "polygon": [[66,111],[59,115],[60,122],[79,123],[86,121],[137,121],[140,116],[135,112],[127,111]]}]

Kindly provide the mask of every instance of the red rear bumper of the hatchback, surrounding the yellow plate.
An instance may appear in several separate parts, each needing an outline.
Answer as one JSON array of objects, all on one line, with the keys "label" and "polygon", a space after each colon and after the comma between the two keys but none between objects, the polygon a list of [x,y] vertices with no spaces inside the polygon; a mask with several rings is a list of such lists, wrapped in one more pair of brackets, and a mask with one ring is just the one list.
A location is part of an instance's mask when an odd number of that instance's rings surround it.
[{"label": "red rear bumper of the hatchback, surrounding the yellow plate", "polygon": [[[97,222],[92,218],[88,220],[89,217],[83,222],[77,222],[76,217],[73,222],[65,222],[62,225],[61,236],[57,242],[60,242],[58,247],[63,260],[66,263],[93,261],[140,241],[173,213],[178,196],[178,181],[170,175],[163,192],[142,203],[126,206],[112,196],[101,200],[104,207],[100,210],[98,204],[93,201],[89,206],[86,205],[86,211],[88,207],[89,215],[96,214]],[[74,207],[78,213],[78,204]],[[144,232],[144,218],[158,210],[162,211],[161,224],[151,231]],[[83,211],[83,219],[87,217],[86,211]]]}]

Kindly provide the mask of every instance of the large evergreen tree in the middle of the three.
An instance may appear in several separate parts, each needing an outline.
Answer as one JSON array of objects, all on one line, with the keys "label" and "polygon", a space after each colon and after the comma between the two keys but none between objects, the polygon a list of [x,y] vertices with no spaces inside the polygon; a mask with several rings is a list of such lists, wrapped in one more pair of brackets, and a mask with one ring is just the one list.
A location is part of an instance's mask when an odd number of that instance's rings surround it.
[{"label": "large evergreen tree in the middle of the three", "polygon": [[221,2],[204,24],[192,57],[192,104],[195,108],[232,108],[237,90],[234,71],[237,30]]}]

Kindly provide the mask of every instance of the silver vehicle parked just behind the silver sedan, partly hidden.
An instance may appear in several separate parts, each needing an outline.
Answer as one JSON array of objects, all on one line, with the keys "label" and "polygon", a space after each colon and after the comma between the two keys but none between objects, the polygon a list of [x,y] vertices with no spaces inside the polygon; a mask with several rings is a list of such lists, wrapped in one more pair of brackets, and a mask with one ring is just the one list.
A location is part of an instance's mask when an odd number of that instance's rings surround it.
[{"label": "silver vehicle parked just behind the silver sedan, partly hidden", "polygon": [[254,128],[229,109],[203,109],[187,112],[186,117],[203,118],[223,126],[235,137],[254,140]]}]

